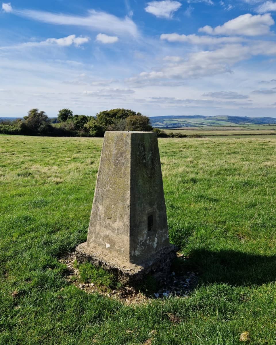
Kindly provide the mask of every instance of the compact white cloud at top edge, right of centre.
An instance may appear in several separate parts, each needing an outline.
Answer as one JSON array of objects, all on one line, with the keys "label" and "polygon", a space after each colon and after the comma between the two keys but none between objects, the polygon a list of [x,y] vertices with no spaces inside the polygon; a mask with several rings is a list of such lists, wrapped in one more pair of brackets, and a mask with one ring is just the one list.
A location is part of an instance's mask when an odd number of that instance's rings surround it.
[{"label": "compact white cloud at top edge, right of centre", "polygon": [[154,14],[158,18],[172,18],[174,12],[179,10],[181,3],[179,1],[163,0],[151,1],[147,3],[145,11]]}]

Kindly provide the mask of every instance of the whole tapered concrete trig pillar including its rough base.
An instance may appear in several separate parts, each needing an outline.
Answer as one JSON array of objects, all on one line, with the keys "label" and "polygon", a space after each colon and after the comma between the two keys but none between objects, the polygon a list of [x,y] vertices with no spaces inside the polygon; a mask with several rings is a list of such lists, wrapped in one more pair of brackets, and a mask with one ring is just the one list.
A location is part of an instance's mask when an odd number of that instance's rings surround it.
[{"label": "whole tapered concrete trig pillar including its rough base", "polygon": [[156,133],[105,132],[87,242],[76,248],[77,260],[135,284],[148,273],[166,276],[175,253]]}]

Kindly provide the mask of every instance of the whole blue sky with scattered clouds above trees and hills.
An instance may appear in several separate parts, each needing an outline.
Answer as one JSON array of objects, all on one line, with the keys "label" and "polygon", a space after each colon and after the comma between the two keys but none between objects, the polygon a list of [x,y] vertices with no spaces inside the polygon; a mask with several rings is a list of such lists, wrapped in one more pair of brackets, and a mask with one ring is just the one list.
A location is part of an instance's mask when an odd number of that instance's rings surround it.
[{"label": "whole blue sky with scattered clouds above trees and hills", "polygon": [[276,2],[0,3],[0,117],[276,117]]}]

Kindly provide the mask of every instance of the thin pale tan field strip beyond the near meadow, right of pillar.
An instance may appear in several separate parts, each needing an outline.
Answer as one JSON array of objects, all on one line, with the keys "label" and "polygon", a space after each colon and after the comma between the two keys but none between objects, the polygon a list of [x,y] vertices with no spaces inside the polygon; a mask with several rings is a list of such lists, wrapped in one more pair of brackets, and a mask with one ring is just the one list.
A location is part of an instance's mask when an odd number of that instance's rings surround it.
[{"label": "thin pale tan field strip beyond the near meadow, right of pillar", "polygon": [[[276,127],[276,126],[275,126]],[[276,134],[276,129],[270,129],[270,130],[250,130],[250,129],[242,129],[242,130],[228,130],[228,129],[203,129],[205,127],[201,127],[200,129],[162,129],[165,133],[180,133],[185,134],[187,136],[199,134],[201,136],[226,136],[226,135],[260,135],[260,134]],[[228,127],[229,128],[229,127]]]}]

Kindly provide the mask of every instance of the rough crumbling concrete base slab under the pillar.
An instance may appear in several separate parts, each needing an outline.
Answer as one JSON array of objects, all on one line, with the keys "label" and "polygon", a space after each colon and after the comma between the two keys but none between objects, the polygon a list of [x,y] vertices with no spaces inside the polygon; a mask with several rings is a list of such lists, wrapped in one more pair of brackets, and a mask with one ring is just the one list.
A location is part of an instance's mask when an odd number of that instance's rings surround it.
[{"label": "rough crumbling concrete base slab under the pillar", "polygon": [[141,284],[147,274],[151,274],[159,281],[165,279],[172,261],[176,258],[176,251],[176,246],[170,244],[147,258],[146,262],[134,264],[123,257],[112,257],[109,252],[88,246],[85,242],[77,246],[76,258],[79,263],[88,261],[114,273],[123,284],[135,286]]}]

